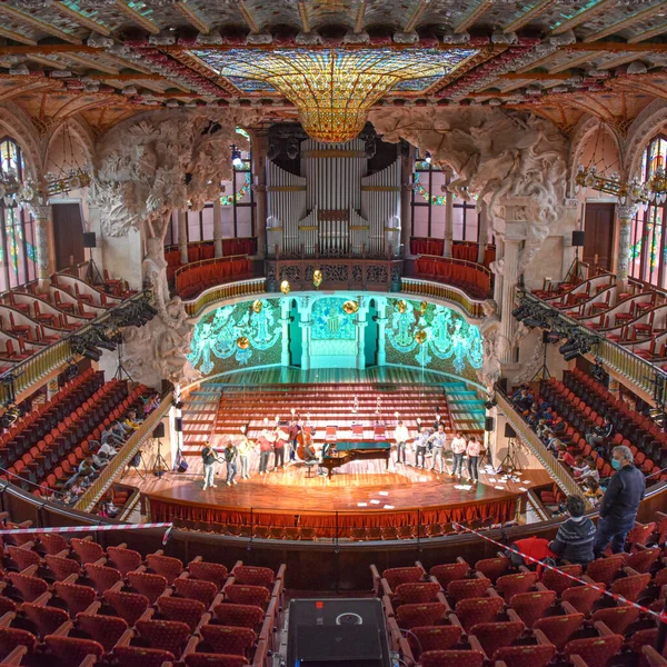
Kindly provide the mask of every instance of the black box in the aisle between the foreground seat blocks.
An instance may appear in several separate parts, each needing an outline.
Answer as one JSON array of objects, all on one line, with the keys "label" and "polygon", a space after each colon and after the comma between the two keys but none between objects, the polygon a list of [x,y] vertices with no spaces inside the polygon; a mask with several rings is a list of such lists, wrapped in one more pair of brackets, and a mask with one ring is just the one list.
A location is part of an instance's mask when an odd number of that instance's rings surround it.
[{"label": "black box in the aisle between the foreground seat blocks", "polygon": [[287,667],[389,667],[379,599],[293,599],[289,604]]}]

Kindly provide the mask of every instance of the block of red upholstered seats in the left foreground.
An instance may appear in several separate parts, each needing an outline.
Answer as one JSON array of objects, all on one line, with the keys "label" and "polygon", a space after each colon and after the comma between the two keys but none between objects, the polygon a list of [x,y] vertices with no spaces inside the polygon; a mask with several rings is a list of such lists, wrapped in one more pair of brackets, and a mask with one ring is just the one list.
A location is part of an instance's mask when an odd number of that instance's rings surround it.
[{"label": "block of red upholstered seats in the left foreground", "polygon": [[229,573],[197,557],[183,567],[162,551],[53,534],[9,541],[0,659],[41,640],[70,665],[93,655],[121,667],[268,667],[280,644],[285,566],[238,561]]}]

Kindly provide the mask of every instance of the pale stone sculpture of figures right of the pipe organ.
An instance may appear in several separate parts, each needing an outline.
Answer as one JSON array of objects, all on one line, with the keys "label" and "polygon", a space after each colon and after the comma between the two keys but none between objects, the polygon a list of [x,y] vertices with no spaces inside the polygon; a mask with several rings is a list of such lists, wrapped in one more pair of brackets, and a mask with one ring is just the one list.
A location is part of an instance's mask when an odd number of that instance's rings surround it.
[{"label": "pale stone sculpture of figures right of the pipe organ", "polygon": [[556,126],[534,116],[489,108],[389,108],[371,111],[385,141],[400,139],[451,167],[449,189],[464,199],[478,195],[489,215],[502,218],[505,201],[528,198],[527,239],[520,272],[535,259],[563,212],[566,141]]}]

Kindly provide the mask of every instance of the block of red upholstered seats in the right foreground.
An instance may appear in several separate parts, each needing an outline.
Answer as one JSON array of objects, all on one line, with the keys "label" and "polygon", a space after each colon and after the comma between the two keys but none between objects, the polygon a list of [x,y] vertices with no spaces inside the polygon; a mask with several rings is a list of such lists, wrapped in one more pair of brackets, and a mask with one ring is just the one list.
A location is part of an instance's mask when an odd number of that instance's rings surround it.
[{"label": "block of red upholstered seats in the right foreground", "polygon": [[[558,665],[606,667],[621,654],[640,664],[641,647],[655,643],[655,617],[605,596],[604,590],[661,610],[667,596],[664,542],[667,515],[637,524],[628,552],[544,574],[498,552],[472,567],[458,558],[425,570],[371,566],[376,595],[382,596],[392,648],[408,665],[500,667]],[[577,583],[566,575],[578,578]],[[590,586],[588,586],[590,585]],[[593,586],[593,587],[591,587]],[[578,656],[578,658],[576,657]]]}]

